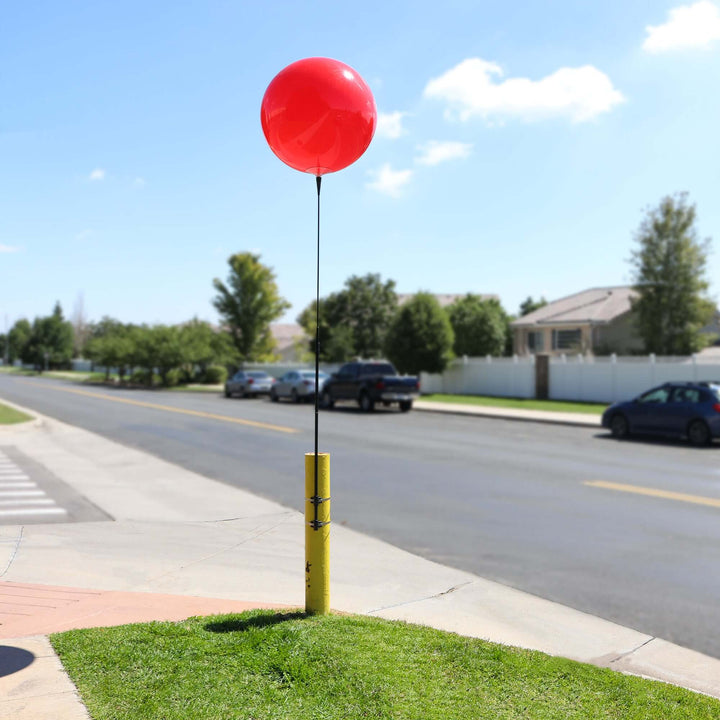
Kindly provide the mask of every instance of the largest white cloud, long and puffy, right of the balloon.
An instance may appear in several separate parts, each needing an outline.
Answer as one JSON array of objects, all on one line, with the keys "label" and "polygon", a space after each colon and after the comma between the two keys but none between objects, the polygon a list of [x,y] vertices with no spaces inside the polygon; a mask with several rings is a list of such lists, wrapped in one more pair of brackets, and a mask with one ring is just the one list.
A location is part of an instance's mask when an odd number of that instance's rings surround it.
[{"label": "largest white cloud, long and puffy, right of the balloon", "polygon": [[[463,60],[425,88],[428,98],[444,100],[462,121],[472,117],[539,120],[569,117],[591,120],[624,100],[610,78],[592,65],[560,68],[541,80],[502,78],[496,63],[481,58]],[[498,79],[498,80],[496,80]]]}]

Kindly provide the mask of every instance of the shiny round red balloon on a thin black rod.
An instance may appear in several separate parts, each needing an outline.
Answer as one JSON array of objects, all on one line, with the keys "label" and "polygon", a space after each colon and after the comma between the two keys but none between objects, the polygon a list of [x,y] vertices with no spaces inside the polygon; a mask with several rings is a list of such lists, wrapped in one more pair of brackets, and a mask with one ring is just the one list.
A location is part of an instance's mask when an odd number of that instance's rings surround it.
[{"label": "shiny round red balloon on a thin black rod", "polygon": [[330,58],[288,65],[268,85],[260,109],[271,150],[295,170],[325,175],[354,163],[377,125],[375,99],[350,66]]}]

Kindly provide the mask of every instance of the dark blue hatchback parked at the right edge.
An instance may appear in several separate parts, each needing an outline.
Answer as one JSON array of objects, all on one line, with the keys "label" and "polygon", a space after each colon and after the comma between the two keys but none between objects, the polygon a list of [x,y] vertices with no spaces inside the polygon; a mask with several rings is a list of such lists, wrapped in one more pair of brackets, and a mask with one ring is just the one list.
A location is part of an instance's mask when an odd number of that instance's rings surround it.
[{"label": "dark blue hatchback parked at the right edge", "polygon": [[665,383],[634,400],[611,405],[603,427],[614,437],[633,433],[687,437],[707,445],[720,437],[720,382]]}]

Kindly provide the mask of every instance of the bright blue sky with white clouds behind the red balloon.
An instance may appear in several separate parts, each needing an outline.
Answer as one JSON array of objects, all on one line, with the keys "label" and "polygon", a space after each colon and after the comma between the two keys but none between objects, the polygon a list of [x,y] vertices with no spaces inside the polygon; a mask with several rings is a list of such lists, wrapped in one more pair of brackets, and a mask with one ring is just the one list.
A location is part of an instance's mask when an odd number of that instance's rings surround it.
[{"label": "bright blue sky with white clouds behind the red balloon", "polygon": [[[644,210],[687,191],[720,242],[720,0],[34,2],[0,42],[0,330],[7,317],[216,320],[258,252],[293,321],[314,295],[315,182],[265,143],[290,62],[375,95],[365,155],[323,181],[321,294],[561,297],[630,281]],[[720,292],[720,256],[708,266]]]}]

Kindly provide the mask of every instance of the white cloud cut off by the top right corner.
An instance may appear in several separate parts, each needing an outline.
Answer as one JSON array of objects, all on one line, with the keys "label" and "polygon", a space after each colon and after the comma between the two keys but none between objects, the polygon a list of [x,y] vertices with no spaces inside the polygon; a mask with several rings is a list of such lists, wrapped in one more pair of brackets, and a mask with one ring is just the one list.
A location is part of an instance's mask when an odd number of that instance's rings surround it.
[{"label": "white cloud cut off by the top right corner", "polygon": [[720,39],[720,8],[710,0],[670,10],[663,25],[648,25],[643,50],[660,53],[683,48],[705,48]]}]

